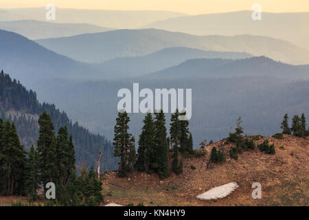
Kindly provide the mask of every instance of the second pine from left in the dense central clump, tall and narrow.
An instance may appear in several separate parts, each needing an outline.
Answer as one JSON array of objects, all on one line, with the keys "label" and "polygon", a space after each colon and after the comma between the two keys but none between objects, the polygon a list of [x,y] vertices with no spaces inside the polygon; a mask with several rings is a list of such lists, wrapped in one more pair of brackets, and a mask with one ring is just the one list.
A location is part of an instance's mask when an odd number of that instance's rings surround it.
[{"label": "second pine from left in the dense central clump, tall and narrow", "polygon": [[155,149],[157,151],[157,173],[161,179],[170,176],[168,138],[163,110],[155,113]]}]

